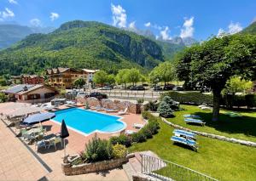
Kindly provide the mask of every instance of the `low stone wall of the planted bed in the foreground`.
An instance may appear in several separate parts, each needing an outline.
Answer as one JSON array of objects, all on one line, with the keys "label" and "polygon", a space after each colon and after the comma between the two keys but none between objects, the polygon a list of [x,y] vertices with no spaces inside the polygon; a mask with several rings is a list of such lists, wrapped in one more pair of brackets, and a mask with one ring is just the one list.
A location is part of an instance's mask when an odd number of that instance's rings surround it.
[{"label": "low stone wall of the planted bed in the foreground", "polygon": [[121,167],[124,163],[129,161],[129,158],[134,155],[128,155],[125,158],[113,159],[110,161],[98,161],[94,163],[84,163],[81,165],[73,166],[71,163],[62,163],[62,172],[65,175],[79,175],[85,173],[97,173],[113,168]]}]

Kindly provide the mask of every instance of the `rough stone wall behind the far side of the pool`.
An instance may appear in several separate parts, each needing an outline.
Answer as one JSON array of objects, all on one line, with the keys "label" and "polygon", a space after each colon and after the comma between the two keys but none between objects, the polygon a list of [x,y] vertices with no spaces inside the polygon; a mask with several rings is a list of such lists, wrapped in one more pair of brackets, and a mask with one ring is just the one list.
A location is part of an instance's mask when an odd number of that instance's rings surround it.
[{"label": "rough stone wall behind the far side of the pool", "polygon": [[111,99],[102,99],[98,100],[96,98],[77,98],[76,99],[78,103],[85,104],[86,102],[90,106],[96,106],[101,105],[104,108],[107,109],[113,109],[113,110],[125,110],[127,107],[127,112],[133,113],[133,114],[140,114],[141,113],[141,105],[138,103],[131,103],[130,101],[120,101],[120,100],[111,100]]}]

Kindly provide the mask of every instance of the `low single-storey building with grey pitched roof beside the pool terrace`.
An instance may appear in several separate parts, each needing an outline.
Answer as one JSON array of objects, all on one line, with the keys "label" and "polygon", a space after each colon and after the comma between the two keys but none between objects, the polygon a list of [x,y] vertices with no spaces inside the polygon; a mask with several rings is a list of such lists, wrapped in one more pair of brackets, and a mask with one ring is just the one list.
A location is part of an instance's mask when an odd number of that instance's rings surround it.
[{"label": "low single-storey building with grey pitched roof beside the pool terrace", "polygon": [[44,84],[19,84],[2,91],[9,99],[24,103],[44,103],[55,98],[58,92],[55,88]]}]

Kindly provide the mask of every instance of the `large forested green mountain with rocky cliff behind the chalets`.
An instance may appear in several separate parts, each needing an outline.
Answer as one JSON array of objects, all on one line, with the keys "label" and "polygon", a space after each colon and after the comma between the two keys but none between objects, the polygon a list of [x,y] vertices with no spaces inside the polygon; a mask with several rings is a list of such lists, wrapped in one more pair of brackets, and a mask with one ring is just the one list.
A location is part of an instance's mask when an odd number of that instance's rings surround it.
[{"label": "large forested green mountain with rocky cliff behind the chalets", "polygon": [[0,51],[0,75],[37,73],[47,68],[152,69],[164,61],[163,48],[131,31],[94,21],[74,20],[49,34],[31,34]]}]

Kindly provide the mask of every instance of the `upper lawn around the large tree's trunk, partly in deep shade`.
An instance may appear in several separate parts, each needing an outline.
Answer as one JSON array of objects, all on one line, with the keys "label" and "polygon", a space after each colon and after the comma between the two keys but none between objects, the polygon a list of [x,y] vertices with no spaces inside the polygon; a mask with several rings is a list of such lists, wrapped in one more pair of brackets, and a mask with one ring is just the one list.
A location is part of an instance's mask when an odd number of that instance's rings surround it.
[{"label": "upper lawn around the large tree's trunk, partly in deep shade", "polygon": [[[256,112],[240,111],[242,117],[230,117],[224,115],[224,112],[230,110],[221,110],[218,122],[212,122],[212,110],[201,110],[194,105],[181,105],[184,110],[176,111],[175,117],[167,119],[169,122],[188,127],[195,131],[206,133],[214,133],[223,135],[229,138],[244,139],[256,142]],[[202,117],[204,122],[207,122],[205,127],[190,125],[184,122],[183,115],[195,114]]]}]

